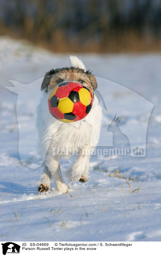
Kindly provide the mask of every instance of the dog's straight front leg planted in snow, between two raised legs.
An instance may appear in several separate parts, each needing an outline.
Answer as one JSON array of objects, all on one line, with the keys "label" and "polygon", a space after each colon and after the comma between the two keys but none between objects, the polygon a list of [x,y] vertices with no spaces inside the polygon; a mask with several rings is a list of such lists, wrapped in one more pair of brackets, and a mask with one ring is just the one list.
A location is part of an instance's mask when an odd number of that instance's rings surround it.
[{"label": "dog's straight front leg planted in snow, between two raised legs", "polygon": [[53,156],[47,157],[47,159],[45,159],[45,165],[49,169],[54,179],[54,182],[56,184],[56,189],[62,193],[66,193],[68,190],[68,187],[66,186],[62,178],[58,157],[53,157]]}]

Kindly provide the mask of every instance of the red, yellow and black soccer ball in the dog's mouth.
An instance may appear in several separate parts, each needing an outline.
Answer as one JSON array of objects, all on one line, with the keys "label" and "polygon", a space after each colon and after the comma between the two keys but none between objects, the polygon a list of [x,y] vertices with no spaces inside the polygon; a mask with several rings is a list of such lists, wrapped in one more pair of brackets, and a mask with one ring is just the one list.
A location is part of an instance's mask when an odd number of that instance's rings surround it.
[{"label": "red, yellow and black soccer ball in the dog's mouth", "polygon": [[78,83],[64,82],[57,85],[48,99],[49,111],[61,122],[76,122],[85,118],[91,110],[91,91]]}]

